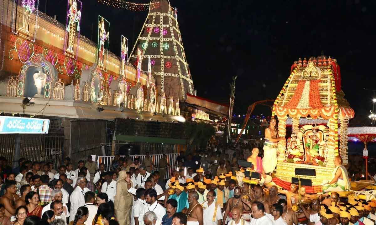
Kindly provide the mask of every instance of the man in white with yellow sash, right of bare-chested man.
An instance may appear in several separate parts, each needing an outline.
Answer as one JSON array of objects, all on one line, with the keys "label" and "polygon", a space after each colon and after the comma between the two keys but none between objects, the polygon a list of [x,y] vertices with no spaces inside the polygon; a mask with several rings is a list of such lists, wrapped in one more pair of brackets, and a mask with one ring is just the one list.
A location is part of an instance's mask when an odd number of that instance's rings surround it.
[{"label": "man in white with yellow sash, right of bare-chested man", "polygon": [[[193,192],[192,195],[198,200],[199,195]],[[206,201],[201,203],[204,211],[204,225],[218,225],[222,223],[221,207],[215,201],[215,192],[209,191],[206,195]],[[213,221],[214,220],[214,221]]]}]

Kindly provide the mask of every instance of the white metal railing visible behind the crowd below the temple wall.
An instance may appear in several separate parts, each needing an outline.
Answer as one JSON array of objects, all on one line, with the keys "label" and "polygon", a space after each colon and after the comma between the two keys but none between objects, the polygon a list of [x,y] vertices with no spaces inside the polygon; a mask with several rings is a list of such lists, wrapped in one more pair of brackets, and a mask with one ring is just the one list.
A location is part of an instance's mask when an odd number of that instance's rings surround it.
[{"label": "white metal railing visible behind the crowd below the temple wall", "polygon": [[[168,164],[175,165],[176,157],[178,155],[179,155],[179,153],[167,153],[166,154],[166,158],[167,158]],[[133,160],[135,158],[138,158],[139,159],[139,163],[143,164],[145,156],[146,155],[131,155],[131,156],[129,156],[129,158],[130,158],[130,160],[132,160],[132,162],[133,162]],[[114,157],[115,156],[98,156],[98,158],[97,158],[97,166],[98,166],[98,168],[99,168],[99,164],[100,163],[105,163],[106,171],[110,171],[111,170],[112,160],[114,160]],[[152,157],[152,161],[153,161],[154,165],[156,166],[156,167],[152,166],[152,172],[157,171],[159,169],[159,159],[161,159],[163,157],[163,154],[151,154],[150,157]],[[172,177],[172,172],[174,170],[175,170],[174,166],[173,167],[167,166],[164,178],[165,179],[171,178]]]}]

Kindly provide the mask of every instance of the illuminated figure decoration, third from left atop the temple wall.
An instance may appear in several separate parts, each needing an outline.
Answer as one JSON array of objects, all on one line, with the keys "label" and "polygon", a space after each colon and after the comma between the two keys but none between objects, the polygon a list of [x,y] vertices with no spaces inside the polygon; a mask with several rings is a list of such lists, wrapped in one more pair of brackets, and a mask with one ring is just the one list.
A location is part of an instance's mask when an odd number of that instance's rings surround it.
[{"label": "illuminated figure decoration, third from left atop the temple wall", "polygon": [[[105,49],[108,49],[108,38],[110,35],[110,31],[106,32],[106,26],[105,21],[108,23],[107,20],[105,20],[103,17],[99,16],[98,18],[98,38],[99,38],[99,45],[98,45],[98,66],[105,70]],[[110,27],[110,23],[108,23],[108,29]],[[107,47],[105,46],[105,43],[107,41]]]}]

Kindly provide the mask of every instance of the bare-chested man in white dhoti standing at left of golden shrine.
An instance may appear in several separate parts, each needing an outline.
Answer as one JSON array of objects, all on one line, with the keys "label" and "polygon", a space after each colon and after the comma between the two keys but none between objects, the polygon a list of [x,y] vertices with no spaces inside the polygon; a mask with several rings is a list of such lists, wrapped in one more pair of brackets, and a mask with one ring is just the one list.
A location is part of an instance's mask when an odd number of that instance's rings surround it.
[{"label": "bare-chested man in white dhoti standing at left of golden shrine", "polygon": [[278,141],[284,139],[279,137],[276,123],[276,119],[272,118],[270,126],[265,129],[264,157],[262,158],[265,173],[271,173],[276,168]]}]

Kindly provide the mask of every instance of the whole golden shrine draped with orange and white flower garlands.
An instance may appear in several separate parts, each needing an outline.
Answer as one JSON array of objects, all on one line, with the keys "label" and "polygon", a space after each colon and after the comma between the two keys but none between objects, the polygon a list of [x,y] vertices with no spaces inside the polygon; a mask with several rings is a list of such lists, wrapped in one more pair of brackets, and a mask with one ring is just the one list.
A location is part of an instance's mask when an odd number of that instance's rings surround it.
[{"label": "whole golden shrine draped with orange and white flower garlands", "polygon": [[[276,177],[291,182],[295,168],[313,168],[314,185],[320,185],[334,168],[338,154],[347,164],[347,124],[354,111],[341,90],[341,73],[337,60],[325,56],[299,59],[273,105],[278,118],[279,141]],[[341,140],[340,140],[341,138]],[[343,139],[343,140],[342,140]],[[338,145],[339,143],[340,146]]]}]

